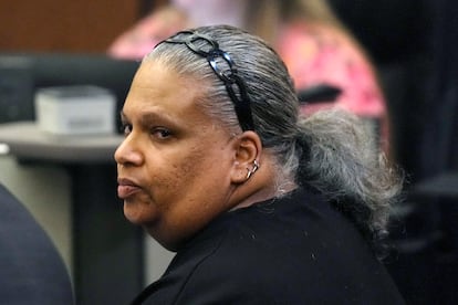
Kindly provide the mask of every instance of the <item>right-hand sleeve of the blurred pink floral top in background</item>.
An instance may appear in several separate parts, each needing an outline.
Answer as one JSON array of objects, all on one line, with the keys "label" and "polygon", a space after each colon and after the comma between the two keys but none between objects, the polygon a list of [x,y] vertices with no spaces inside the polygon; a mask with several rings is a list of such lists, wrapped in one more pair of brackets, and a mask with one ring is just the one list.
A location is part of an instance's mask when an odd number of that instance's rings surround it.
[{"label": "right-hand sleeve of the blurred pink floral top in background", "polygon": [[362,117],[376,119],[386,149],[386,101],[375,71],[363,51],[350,38],[332,28],[304,22],[283,27],[279,36],[277,51],[298,90],[319,84],[342,90],[334,103],[305,105],[302,113],[310,114],[323,107],[339,106]]}]

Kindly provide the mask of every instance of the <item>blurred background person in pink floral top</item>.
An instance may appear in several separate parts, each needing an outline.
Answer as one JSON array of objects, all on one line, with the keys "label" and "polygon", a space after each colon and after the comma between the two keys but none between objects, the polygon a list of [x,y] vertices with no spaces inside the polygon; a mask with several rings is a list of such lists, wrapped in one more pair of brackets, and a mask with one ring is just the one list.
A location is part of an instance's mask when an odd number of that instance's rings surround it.
[{"label": "blurred background person in pink floral top", "polygon": [[267,40],[285,62],[296,91],[325,84],[341,94],[302,107],[310,114],[340,106],[366,118],[389,150],[387,105],[363,48],[324,0],[171,0],[117,38],[108,54],[142,59],[174,32],[195,25],[231,24]]}]

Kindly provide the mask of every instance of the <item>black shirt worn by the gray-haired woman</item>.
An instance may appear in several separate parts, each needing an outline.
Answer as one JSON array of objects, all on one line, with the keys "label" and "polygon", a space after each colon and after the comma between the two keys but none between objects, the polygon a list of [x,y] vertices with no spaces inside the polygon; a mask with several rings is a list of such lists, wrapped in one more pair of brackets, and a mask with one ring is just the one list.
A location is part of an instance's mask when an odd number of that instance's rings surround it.
[{"label": "black shirt worn by the gray-haired woman", "polygon": [[225,213],[133,304],[404,304],[368,243],[299,189]]}]

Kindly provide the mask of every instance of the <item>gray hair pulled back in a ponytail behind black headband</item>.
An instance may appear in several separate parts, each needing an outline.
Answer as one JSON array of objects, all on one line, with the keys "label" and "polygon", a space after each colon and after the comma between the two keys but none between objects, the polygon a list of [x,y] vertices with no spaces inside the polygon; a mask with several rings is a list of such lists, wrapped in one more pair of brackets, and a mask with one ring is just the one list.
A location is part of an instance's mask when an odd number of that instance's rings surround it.
[{"label": "gray hair pulled back in a ponytail behind black headband", "polygon": [[[277,159],[277,181],[289,179],[312,186],[364,232],[384,235],[402,181],[365,125],[355,115],[337,109],[301,119],[287,67],[260,38],[228,25],[192,31],[215,39],[233,60],[247,86],[254,130]],[[196,42],[199,48],[204,44]],[[191,75],[202,85],[201,103],[210,117],[231,133],[240,133],[233,103],[206,59],[183,44],[160,43],[145,60],[160,61],[183,75]],[[281,182],[277,187],[281,196]]]}]

